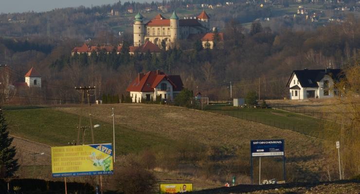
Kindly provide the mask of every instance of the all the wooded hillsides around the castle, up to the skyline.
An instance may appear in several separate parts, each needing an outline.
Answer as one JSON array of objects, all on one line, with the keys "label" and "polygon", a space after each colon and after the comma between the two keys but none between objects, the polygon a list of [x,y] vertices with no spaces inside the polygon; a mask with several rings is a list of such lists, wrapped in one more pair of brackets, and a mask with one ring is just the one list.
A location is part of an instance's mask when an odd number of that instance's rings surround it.
[{"label": "all the wooded hillsides around the castle, up to the skyline", "polygon": [[[187,1],[179,2],[183,5]],[[179,2],[171,1],[175,4]],[[73,89],[78,85],[97,86],[98,97],[102,94],[126,94],[127,85],[137,73],[161,69],[168,74],[180,74],[185,87],[198,90],[212,99],[229,98],[230,81],[233,97],[244,97],[248,91],[260,89],[261,98],[283,98],[288,96],[285,85],[293,70],[329,66],[341,68],[352,64],[360,56],[360,28],[356,15],[346,15],[343,22],[313,26],[311,30],[306,27],[295,29],[302,24],[293,17],[281,17],[282,20],[275,20],[273,25],[256,20],[245,29],[239,16],[260,8],[242,1],[236,2],[233,7],[209,10],[212,21],[222,23],[219,29],[224,33],[224,49],[202,49],[197,41],[182,40],[178,42],[177,49],[163,50],[159,56],[149,53],[130,56],[127,48],[132,44],[132,31],[119,37],[110,30],[108,22],[131,23],[132,16],[112,18],[91,14],[114,6],[125,10],[137,4],[119,2],[93,8],[10,14],[14,16],[14,21],[22,21],[24,18],[20,16],[29,16],[30,19],[25,19],[24,23],[4,23],[10,15],[0,15],[0,64],[12,68],[11,82],[24,81],[23,76],[32,66],[43,77],[41,94],[28,91],[29,94],[22,96],[78,99],[78,93]],[[271,10],[265,8],[256,13],[266,15],[270,11],[273,14]],[[68,14],[64,14],[66,12]],[[190,13],[195,12],[192,10]],[[98,17],[102,16],[108,19],[99,22]],[[249,16],[249,20],[255,17],[252,14]],[[50,28],[46,25],[47,18]],[[59,26],[52,26],[54,21]],[[47,29],[50,29],[49,36],[46,35]],[[17,34],[19,37],[15,37]],[[90,45],[116,46],[123,43],[123,50],[119,55],[100,52],[99,55],[72,57],[71,50],[85,41],[78,37],[79,34],[81,37],[95,34]]]}]

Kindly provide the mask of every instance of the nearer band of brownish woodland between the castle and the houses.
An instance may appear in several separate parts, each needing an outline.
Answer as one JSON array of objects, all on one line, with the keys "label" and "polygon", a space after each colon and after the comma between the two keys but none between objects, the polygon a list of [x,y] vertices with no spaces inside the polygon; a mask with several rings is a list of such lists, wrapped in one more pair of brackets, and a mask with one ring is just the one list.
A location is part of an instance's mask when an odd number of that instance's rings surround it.
[{"label": "nearer band of brownish woodland between the castle and the houses", "polygon": [[[24,43],[13,41],[12,45],[4,39],[0,39],[0,48],[1,53],[7,53],[8,64],[18,72],[13,74],[14,80],[21,81],[34,65],[48,84],[47,95],[64,99],[77,99],[73,90],[76,85],[96,85],[99,96],[125,94],[128,83],[138,72],[154,69],[180,74],[185,87],[198,88],[203,95],[214,99],[229,97],[230,81],[233,97],[258,91],[260,81],[262,98],[281,98],[287,96],[285,85],[292,70],[321,69],[330,64],[332,68],[341,68],[360,56],[359,20],[355,18],[311,32],[288,29],[273,32],[253,23],[250,33],[244,33],[239,23],[230,21],[223,32],[224,49],[201,49],[199,42],[180,41],[179,49],[163,50],[160,56],[149,53],[130,56],[123,49],[119,55],[72,57],[71,41],[51,44],[50,54],[41,49],[14,50]],[[123,48],[126,45],[129,44],[125,42]]]}]

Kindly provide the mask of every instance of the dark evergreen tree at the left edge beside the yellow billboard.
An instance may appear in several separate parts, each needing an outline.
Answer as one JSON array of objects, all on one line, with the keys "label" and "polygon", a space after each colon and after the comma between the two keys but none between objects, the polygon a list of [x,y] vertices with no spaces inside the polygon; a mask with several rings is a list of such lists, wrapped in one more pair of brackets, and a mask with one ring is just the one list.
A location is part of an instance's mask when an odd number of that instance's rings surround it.
[{"label": "dark evergreen tree at the left edge beside the yellow billboard", "polygon": [[12,137],[9,137],[7,124],[0,110],[0,178],[13,177],[18,170],[18,159],[14,159],[16,155],[15,146],[11,146]]}]

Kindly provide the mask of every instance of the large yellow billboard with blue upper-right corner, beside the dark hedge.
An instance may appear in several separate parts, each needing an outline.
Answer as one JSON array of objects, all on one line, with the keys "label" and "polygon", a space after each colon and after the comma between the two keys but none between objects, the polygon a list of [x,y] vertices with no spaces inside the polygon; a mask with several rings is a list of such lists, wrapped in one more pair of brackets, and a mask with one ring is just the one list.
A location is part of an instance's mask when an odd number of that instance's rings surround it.
[{"label": "large yellow billboard with blue upper-right corner, beside the dark hedge", "polygon": [[53,177],[113,174],[112,145],[51,147]]}]

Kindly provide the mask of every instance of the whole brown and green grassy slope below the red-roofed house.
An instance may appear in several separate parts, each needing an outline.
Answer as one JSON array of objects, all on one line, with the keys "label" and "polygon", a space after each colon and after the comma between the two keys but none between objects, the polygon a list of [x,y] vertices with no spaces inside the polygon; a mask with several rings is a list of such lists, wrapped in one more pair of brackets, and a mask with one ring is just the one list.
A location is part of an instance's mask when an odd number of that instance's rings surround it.
[{"label": "whole brown and green grassy slope below the red-roofed house", "polygon": [[[326,180],[327,154],[321,140],[221,114],[173,106],[92,105],[93,124],[101,125],[94,129],[95,143],[112,142],[111,107],[115,109],[118,160],[151,151],[156,156],[154,172],[161,182],[186,180],[200,190],[222,185],[235,175],[238,184],[250,183],[252,139],[285,139],[288,181]],[[49,146],[66,146],[76,139],[78,115],[88,116],[88,109],[81,105],[5,107],[4,115],[10,134]],[[89,120],[83,117],[82,125],[88,126]],[[90,131],[86,133],[89,144]],[[28,154],[24,152],[22,155]],[[46,161],[39,160],[36,169],[40,164],[49,166]],[[28,162],[32,162],[30,158]],[[30,167],[27,171],[32,172]],[[258,160],[254,159],[254,182],[258,181],[257,169]],[[46,177],[49,170],[46,168],[44,172],[41,176]],[[282,179],[280,158],[262,159],[262,179],[270,178]]]}]

